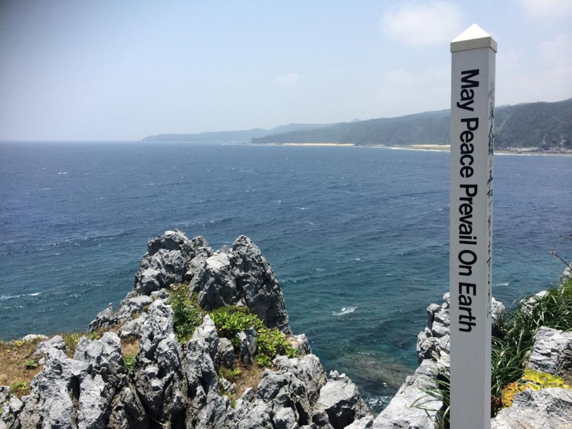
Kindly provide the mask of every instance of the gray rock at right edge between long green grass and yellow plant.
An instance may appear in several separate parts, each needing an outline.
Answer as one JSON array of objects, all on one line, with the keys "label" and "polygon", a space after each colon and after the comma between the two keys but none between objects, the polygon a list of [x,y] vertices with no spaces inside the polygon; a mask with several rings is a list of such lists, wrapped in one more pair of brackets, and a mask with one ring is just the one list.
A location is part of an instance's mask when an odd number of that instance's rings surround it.
[{"label": "gray rock at right edge between long green grass and yellow plant", "polygon": [[526,367],[549,372],[572,383],[572,331],[541,327],[534,335],[534,347]]}]

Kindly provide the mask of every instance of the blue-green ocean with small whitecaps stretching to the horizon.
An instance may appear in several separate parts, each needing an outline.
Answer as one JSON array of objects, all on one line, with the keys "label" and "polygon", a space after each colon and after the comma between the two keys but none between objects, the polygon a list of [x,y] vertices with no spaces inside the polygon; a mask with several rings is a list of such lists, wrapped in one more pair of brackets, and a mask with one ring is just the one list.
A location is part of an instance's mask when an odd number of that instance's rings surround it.
[{"label": "blue-green ocean with small whitecaps stretching to the horizon", "polygon": [[[291,325],[379,410],[448,291],[447,152],[170,143],[0,144],[0,337],[85,329],[133,287],[149,237],[248,235]],[[572,157],[496,156],[494,296],[572,259]]]}]

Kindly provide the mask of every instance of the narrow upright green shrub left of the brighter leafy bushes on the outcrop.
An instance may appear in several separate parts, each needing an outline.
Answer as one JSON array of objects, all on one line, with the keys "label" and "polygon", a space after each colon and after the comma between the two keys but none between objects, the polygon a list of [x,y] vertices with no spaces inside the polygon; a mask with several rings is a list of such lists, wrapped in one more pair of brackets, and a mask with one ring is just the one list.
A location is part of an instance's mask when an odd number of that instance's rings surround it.
[{"label": "narrow upright green shrub left of the brighter leafy bushes on the outcrop", "polygon": [[194,329],[201,324],[201,316],[190,300],[188,283],[173,285],[169,304],[173,307],[173,328],[179,343],[186,343],[193,336]]}]

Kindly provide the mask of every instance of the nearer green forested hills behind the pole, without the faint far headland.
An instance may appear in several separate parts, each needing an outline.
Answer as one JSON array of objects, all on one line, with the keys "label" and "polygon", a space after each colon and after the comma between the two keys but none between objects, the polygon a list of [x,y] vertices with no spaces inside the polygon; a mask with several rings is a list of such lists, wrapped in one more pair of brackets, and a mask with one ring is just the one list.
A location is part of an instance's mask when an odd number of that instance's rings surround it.
[{"label": "nearer green forested hills behind the pole, without the faint far headland", "polygon": [[[502,106],[495,111],[495,146],[572,149],[572,98]],[[319,129],[296,130],[253,138],[253,143],[353,143],[356,145],[448,144],[448,110],[342,122]]]}]

